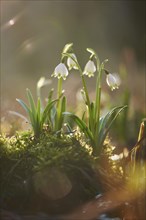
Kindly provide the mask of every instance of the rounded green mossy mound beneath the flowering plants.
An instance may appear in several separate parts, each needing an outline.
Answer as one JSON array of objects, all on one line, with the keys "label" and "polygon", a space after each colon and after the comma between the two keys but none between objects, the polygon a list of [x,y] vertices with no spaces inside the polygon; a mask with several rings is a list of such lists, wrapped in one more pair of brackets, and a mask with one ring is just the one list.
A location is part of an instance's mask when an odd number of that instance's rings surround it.
[{"label": "rounded green mossy mound beneath the flowering plants", "polygon": [[94,158],[75,137],[44,131],[0,137],[1,204],[17,212],[63,213],[99,190]]}]

